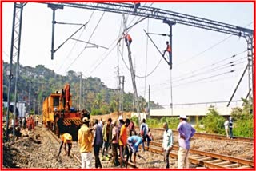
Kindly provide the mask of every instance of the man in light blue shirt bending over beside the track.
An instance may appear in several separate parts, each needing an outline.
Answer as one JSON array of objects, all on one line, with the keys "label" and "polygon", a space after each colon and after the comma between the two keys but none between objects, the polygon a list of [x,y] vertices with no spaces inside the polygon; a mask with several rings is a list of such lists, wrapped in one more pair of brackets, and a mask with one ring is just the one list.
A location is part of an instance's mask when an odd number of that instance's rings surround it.
[{"label": "man in light blue shirt bending over beside the track", "polygon": [[[143,144],[143,140],[142,137],[138,137],[137,135],[128,137],[127,139],[127,145],[130,147],[130,162],[132,162],[131,156],[134,153],[134,165],[136,165],[136,153],[138,153],[138,146],[140,144]],[[138,157],[140,157],[139,154]]]}]

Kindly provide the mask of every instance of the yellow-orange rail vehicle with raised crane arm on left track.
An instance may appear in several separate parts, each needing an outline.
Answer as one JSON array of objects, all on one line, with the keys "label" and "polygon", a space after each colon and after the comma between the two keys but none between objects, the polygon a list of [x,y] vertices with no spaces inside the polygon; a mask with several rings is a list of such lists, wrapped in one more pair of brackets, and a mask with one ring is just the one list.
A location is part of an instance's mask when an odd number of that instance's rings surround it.
[{"label": "yellow-orange rail vehicle with raised crane arm on left track", "polygon": [[84,110],[76,111],[70,107],[72,106],[71,97],[70,85],[65,85],[61,93],[51,93],[49,97],[46,97],[42,105],[42,121],[55,134],[71,133],[75,141],[77,130],[82,125],[81,118],[87,113],[84,113]]}]

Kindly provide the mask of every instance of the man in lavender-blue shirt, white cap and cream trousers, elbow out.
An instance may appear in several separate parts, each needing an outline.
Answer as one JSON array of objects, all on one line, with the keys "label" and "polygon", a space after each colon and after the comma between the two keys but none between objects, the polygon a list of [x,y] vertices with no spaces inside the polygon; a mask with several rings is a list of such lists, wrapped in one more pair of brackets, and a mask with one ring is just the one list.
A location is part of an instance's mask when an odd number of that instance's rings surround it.
[{"label": "man in lavender-blue shirt, white cap and cream trousers, elbow out", "polygon": [[179,117],[178,125],[178,169],[189,168],[190,138],[194,136],[195,129],[186,122],[186,115]]}]

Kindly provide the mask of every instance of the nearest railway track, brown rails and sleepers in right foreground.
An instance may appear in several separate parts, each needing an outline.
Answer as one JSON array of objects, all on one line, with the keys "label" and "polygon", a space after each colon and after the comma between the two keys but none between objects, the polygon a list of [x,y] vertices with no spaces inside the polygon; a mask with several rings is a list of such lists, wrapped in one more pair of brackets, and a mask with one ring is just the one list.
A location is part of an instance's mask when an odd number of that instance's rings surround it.
[{"label": "nearest railway track, brown rails and sleepers in right foreground", "polygon": [[[153,145],[153,146],[152,146]],[[153,153],[162,153],[162,144],[158,142],[150,142],[148,149]],[[178,146],[174,145],[174,149],[170,152],[170,157],[178,158]],[[190,149],[189,160],[195,165],[199,165],[209,169],[253,169],[254,161],[245,160],[238,157],[229,157],[216,153],[207,153],[196,149]]]}]

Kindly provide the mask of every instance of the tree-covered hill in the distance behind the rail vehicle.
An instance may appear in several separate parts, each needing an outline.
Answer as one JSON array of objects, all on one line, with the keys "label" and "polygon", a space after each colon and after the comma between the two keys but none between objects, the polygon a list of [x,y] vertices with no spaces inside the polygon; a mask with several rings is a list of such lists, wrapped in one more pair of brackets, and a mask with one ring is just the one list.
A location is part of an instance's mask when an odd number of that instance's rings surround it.
[{"label": "tree-covered hill in the distance behind the rail vehicle", "polygon": [[[3,62],[3,73],[9,68],[9,63]],[[15,74],[16,65],[13,65]],[[14,101],[14,81],[11,83],[10,101]],[[30,104],[30,109],[35,109],[36,113],[41,113],[42,101],[56,91],[63,89],[69,83],[70,93],[73,95],[73,106],[78,108],[80,94],[80,74],[70,70],[66,76],[54,73],[43,65],[34,67],[20,65],[18,76],[18,101],[26,101]],[[7,100],[8,79],[3,74],[3,100]],[[108,89],[100,78],[82,78],[82,108],[98,110],[100,114],[118,111],[119,104],[118,89]],[[29,103],[30,99],[30,103]],[[123,109],[126,112],[133,111],[133,93],[125,93],[123,97]],[[146,109],[147,103],[143,97],[139,97],[141,109]],[[151,109],[163,109],[162,106],[150,101]]]}]

